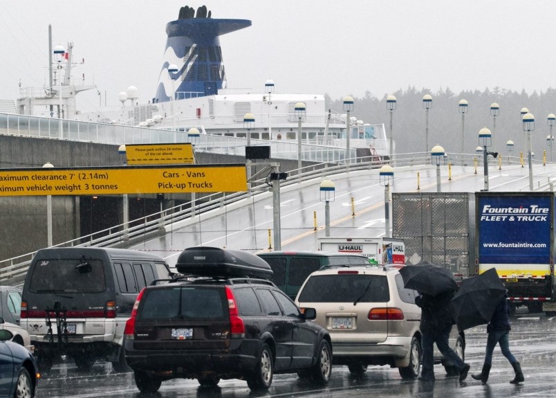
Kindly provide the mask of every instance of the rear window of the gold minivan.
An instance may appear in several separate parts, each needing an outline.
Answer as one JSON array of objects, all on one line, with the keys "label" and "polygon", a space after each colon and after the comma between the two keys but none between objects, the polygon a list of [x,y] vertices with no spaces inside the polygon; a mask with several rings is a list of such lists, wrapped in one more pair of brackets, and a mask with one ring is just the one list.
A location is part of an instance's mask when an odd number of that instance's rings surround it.
[{"label": "rear window of the gold minivan", "polygon": [[388,280],[384,275],[313,275],[299,293],[299,302],[387,302],[389,300]]}]

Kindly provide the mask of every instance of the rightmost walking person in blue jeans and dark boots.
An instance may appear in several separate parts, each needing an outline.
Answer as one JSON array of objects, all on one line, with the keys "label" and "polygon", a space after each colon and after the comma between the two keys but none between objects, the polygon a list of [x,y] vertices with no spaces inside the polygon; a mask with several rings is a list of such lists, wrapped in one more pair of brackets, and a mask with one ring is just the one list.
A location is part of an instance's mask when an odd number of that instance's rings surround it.
[{"label": "rightmost walking person in blue jeans and dark boots", "polygon": [[479,374],[472,374],[471,377],[475,380],[481,380],[483,384],[488,381],[488,374],[492,365],[492,352],[497,344],[500,345],[503,356],[512,364],[514,368],[515,377],[510,383],[517,384],[525,381],[523,372],[521,372],[521,365],[515,359],[512,352],[510,352],[510,305],[508,305],[508,293],[500,300],[499,304],[492,314],[492,318],[487,325],[487,346],[485,354],[485,363],[483,363],[483,370]]}]

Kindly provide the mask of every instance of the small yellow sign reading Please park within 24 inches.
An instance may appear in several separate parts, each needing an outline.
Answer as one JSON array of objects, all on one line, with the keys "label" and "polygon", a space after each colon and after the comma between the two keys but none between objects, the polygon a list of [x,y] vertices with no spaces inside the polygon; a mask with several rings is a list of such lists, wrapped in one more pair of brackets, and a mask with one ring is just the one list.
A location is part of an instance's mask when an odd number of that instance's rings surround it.
[{"label": "small yellow sign reading Please park within 24 inches", "polygon": [[126,145],[125,154],[129,165],[194,163],[191,143]]}]

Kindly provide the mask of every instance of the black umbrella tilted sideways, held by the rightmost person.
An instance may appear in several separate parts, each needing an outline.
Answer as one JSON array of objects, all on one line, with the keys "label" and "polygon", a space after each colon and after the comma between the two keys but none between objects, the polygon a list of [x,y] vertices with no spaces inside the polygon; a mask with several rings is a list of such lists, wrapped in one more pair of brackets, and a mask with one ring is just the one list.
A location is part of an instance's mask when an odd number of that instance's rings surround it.
[{"label": "black umbrella tilted sideways, held by the rightmost person", "polygon": [[506,287],[494,268],[464,279],[452,298],[458,328],[464,330],[489,323],[505,294]]}]

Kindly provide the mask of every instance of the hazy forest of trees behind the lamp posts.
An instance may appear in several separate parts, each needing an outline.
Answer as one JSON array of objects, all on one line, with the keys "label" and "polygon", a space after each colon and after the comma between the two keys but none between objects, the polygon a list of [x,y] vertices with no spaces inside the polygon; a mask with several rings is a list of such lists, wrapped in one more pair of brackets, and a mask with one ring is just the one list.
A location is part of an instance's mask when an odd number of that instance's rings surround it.
[{"label": "hazy forest of trees behind the lamp posts", "polygon": [[[521,109],[527,108],[535,116],[535,130],[531,132],[532,152],[535,159],[542,160],[546,150],[546,160],[550,161],[550,147],[546,137],[550,135],[548,115],[556,114],[556,90],[532,94],[526,91],[511,91],[494,87],[484,91],[461,91],[454,93],[450,89],[440,89],[436,93],[428,89],[416,90],[408,87],[393,93],[396,96],[396,109],[392,114],[392,130],[396,153],[425,152],[426,109],[423,107],[423,96],[432,96],[432,107],[429,109],[429,148],[441,145],[445,152],[460,153],[463,140],[463,152],[476,153],[479,143],[479,130],[488,127],[492,132],[493,145],[489,151],[508,155],[506,143],[514,143],[512,156],[527,156],[526,132],[523,132]],[[353,97],[354,105],[351,116],[365,123],[384,123],[387,137],[390,137],[390,111],[387,109],[387,95],[382,98],[373,96],[367,91],[363,98]],[[464,116],[462,135],[462,114],[459,101],[467,100],[467,113]],[[332,100],[326,96],[328,108],[338,113],[343,111],[343,98]],[[496,117],[496,129],[491,116],[490,105],[499,105],[499,116]],[[553,127],[553,135],[556,126]],[[556,148],[553,148],[553,160],[556,161]]]}]

